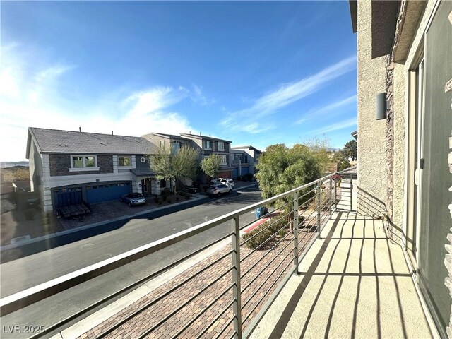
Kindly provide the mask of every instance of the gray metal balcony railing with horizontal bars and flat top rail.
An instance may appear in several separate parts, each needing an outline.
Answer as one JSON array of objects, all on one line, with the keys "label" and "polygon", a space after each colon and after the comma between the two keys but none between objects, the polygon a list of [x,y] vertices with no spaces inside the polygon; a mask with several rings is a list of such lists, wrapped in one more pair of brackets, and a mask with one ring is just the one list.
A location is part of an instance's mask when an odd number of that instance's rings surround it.
[{"label": "gray metal balcony railing with horizontal bars and flat top rail", "polygon": [[[197,338],[204,338],[206,333],[210,333],[212,338],[247,338],[290,276],[298,274],[299,261],[314,240],[320,236],[323,226],[330,220],[333,212],[338,209],[338,201],[343,202],[348,194],[350,209],[352,208],[353,174],[339,173],[343,178],[347,176],[350,179],[350,191],[344,185],[341,188],[341,179],[337,174],[329,174],[284,194],[235,210],[183,232],[172,234],[124,254],[5,297],[0,302],[1,316],[57,295],[73,286],[178,244],[185,239],[196,237],[201,232],[227,222],[230,224],[230,232],[219,237],[215,242],[203,246],[100,301],[94,302],[76,314],[48,326],[44,332],[35,334],[31,338],[42,338],[49,333],[61,331],[74,319],[79,319],[83,314],[88,314],[89,311],[117,298],[118,295],[143,285],[220,242],[227,242],[227,244],[222,250],[211,256],[210,260],[200,265],[196,271],[191,271],[191,274],[184,280],[169,285],[162,293],[141,302],[139,307],[129,311],[119,321],[112,322],[110,326],[103,328],[102,333],[97,333],[95,338],[116,338],[121,333],[124,324],[145,314],[153,315],[148,317],[147,326],[141,328],[138,338],[145,338],[158,331],[172,319],[178,319],[179,324],[177,333],[168,334],[172,338],[184,336],[184,333],[191,329],[194,323],[201,321],[200,319],[204,319],[204,323],[201,330],[195,335]],[[247,237],[241,237],[242,230],[249,229],[256,223],[254,220],[246,225],[241,225],[241,216],[256,208],[272,204],[277,206],[276,209],[259,218],[267,221],[258,225]],[[277,214],[279,214],[278,217],[276,217]],[[267,234],[266,239],[256,246],[256,240],[258,237],[263,237],[263,234]],[[253,242],[254,246],[250,246]],[[162,304],[168,303],[168,298],[177,298],[178,295],[181,295],[180,291],[189,286],[193,292],[189,293],[188,297],[177,299],[178,302],[174,303],[173,309],[166,313],[159,311]],[[207,294],[209,298],[206,298]],[[203,307],[194,311],[191,305],[199,299],[203,299]],[[208,299],[209,302],[205,302],[204,299]],[[210,316],[206,318],[205,314],[209,310]],[[192,336],[192,333],[189,336]]]}]

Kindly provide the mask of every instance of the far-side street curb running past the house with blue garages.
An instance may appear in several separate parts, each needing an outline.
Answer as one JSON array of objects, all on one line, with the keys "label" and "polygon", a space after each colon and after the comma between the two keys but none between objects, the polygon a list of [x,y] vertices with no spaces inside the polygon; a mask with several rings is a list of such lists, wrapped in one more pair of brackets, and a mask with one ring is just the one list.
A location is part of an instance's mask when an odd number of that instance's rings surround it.
[{"label": "far-side street curb running past the house with blue garages", "polygon": [[155,212],[157,210],[165,210],[167,208],[172,208],[174,206],[184,205],[185,203],[192,203],[193,201],[198,201],[198,200],[202,200],[202,199],[206,199],[206,198],[208,198],[208,196],[192,197],[189,201],[182,201],[180,203],[172,203],[171,205],[153,208],[152,210],[145,210],[145,211],[138,212],[138,213],[122,215],[121,217],[117,217],[117,218],[110,219],[110,220],[105,220],[105,221],[100,221],[100,222],[95,222],[94,224],[73,228],[72,230],[65,230],[65,231],[56,232],[56,233],[52,233],[52,234],[42,235],[41,237],[32,238],[32,239],[26,240],[24,242],[19,242],[18,244],[8,244],[8,245],[0,246],[0,252],[1,251],[7,251],[8,249],[16,249],[16,248],[18,248],[20,246],[33,244],[35,242],[42,242],[44,240],[48,240],[48,239],[52,239],[52,238],[56,238],[56,237],[61,237],[62,235],[66,235],[66,234],[71,234],[71,233],[78,232],[78,231],[88,230],[90,228],[106,225],[106,224],[109,224],[111,222],[125,220],[125,219],[129,219],[129,218],[133,218],[133,217],[138,217],[140,215],[144,215],[144,214],[148,214],[148,213],[153,213],[153,212]]}]

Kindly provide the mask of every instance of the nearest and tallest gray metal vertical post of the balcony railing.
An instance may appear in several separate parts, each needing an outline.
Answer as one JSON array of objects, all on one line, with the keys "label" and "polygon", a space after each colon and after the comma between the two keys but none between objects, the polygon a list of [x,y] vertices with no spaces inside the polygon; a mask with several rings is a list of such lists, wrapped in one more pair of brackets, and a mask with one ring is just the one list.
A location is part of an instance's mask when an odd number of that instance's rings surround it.
[{"label": "nearest and tallest gray metal vertical post of the balcony railing", "polygon": [[242,339],[242,287],[240,286],[240,217],[232,225],[232,293],[234,297],[234,338]]}]

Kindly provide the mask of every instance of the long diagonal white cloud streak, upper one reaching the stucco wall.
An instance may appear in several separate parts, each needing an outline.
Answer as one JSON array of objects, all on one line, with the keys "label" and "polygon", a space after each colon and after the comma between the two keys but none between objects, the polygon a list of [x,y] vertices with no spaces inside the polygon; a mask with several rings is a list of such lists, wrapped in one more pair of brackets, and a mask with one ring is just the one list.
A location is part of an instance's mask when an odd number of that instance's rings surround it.
[{"label": "long diagonal white cloud streak, upper one reaching the stucco wall", "polygon": [[355,67],[356,57],[348,57],[336,64],[328,66],[326,69],[323,69],[313,76],[303,78],[295,83],[280,85],[278,89],[255,100],[251,107],[232,112],[227,119],[224,119],[221,122],[221,124],[227,125],[230,124],[231,121],[239,118],[255,120],[274,114],[275,112],[278,112],[279,109],[292,104],[292,102],[301,100],[317,90],[320,90],[329,81],[352,71]]}]

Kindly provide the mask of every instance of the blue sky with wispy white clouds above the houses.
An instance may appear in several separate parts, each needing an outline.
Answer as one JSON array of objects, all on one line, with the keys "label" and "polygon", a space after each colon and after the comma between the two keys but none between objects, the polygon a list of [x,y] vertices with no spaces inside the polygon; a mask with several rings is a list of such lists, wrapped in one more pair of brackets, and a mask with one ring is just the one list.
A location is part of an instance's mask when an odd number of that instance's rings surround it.
[{"label": "blue sky with wispy white clouds above the houses", "polygon": [[29,126],[341,148],[356,66],[348,1],[2,1],[0,160]]}]

